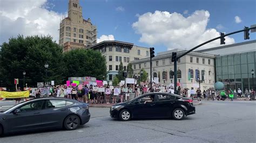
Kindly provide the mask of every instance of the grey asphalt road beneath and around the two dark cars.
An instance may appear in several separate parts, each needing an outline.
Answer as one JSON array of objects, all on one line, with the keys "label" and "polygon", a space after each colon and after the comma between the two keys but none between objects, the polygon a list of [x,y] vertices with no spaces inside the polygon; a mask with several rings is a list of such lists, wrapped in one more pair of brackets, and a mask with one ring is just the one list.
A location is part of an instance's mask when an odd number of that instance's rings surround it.
[{"label": "grey asphalt road beneath and around the two dark cars", "polygon": [[181,121],[123,122],[110,118],[108,108],[90,108],[91,120],[78,130],[17,133],[0,142],[255,142],[255,101],[202,103]]}]

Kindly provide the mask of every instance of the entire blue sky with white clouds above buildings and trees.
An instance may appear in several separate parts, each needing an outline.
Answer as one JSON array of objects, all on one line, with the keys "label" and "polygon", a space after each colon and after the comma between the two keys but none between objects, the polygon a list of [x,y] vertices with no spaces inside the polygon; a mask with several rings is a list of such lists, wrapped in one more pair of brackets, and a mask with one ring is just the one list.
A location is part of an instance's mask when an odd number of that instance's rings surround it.
[{"label": "entire blue sky with white clouds above buildings and trees", "polygon": [[[156,52],[191,49],[244,26],[256,24],[255,0],[80,0],[83,18],[97,26],[98,41],[119,40]],[[0,0],[0,45],[10,37],[51,35],[68,15],[68,0]],[[226,45],[244,42],[244,33],[225,37]],[[250,33],[250,40],[256,33]],[[217,47],[215,40],[200,49]]]}]

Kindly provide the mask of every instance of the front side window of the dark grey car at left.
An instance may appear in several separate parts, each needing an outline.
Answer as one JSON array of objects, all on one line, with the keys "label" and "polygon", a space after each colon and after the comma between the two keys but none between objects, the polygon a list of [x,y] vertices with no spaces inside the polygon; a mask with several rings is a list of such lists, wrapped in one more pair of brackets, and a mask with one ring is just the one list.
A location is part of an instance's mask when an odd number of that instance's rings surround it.
[{"label": "front side window of the dark grey car at left", "polygon": [[41,110],[43,108],[44,101],[35,101],[25,104],[19,108],[21,112]]}]

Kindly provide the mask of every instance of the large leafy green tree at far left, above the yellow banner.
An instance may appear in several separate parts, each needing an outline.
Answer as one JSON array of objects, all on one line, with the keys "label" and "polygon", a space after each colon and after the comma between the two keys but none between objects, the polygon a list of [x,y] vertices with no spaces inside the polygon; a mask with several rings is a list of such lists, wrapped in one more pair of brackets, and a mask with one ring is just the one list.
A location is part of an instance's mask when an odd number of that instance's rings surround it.
[{"label": "large leafy green tree at far left, above the yellow banner", "polygon": [[[18,35],[4,42],[0,51],[0,75],[3,85],[14,89],[14,78],[19,78],[23,87],[23,71],[26,71],[25,83],[36,87],[37,82],[54,80],[60,84],[64,80],[63,51],[50,36]],[[45,63],[48,63],[46,77]]]}]

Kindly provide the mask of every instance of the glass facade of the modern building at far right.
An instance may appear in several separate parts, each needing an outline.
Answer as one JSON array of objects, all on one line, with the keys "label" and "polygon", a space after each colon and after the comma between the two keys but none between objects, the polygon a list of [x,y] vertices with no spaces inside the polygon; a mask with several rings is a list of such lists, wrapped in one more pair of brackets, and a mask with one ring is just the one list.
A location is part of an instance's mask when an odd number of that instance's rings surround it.
[{"label": "glass facade of the modern building at far right", "polygon": [[[245,89],[256,89],[256,78],[252,81],[251,71],[255,71],[256,51],[239,53],[233,55],[217,56],[216,58],[216,78],[223,82],[226,89],[240,88],[244,93]],[[254,85],[253,85],[254,83]]]}]

